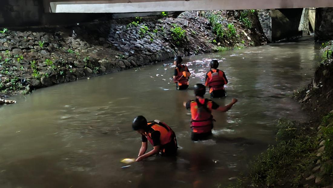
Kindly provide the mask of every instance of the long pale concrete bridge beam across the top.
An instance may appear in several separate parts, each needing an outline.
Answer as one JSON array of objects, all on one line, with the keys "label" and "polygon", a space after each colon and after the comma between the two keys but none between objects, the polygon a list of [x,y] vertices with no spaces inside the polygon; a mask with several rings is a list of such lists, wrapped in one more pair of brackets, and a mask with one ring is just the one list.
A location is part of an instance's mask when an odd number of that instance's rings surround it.
[{"label": "long pale concrete bridge beam across the top", "polygon": [[[126,13],[333,7],[333,0],[44,0],[54,13]],[[46,9],[49,10],[49,9]]]}]

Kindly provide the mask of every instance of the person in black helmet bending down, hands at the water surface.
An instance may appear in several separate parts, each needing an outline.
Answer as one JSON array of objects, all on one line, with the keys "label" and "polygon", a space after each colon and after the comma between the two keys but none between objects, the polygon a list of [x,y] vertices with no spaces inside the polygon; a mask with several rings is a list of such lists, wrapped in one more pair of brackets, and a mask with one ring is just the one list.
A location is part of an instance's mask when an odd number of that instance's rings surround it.
[{"label": "person in black helmet bending down, hands at the water surface", "polygon": [[[136,161],[142,161],[143,159],[160,154],[162,156],[172,156],[177,151],[176,135],[172,129],[165,123],[155,120],[147,122],[144,116],[138,116],[133,120],[133,130],[142,135],[142,145],[139,151],[139,157]],[[154,149],[148,153],[147,141],[149,141]]]}]

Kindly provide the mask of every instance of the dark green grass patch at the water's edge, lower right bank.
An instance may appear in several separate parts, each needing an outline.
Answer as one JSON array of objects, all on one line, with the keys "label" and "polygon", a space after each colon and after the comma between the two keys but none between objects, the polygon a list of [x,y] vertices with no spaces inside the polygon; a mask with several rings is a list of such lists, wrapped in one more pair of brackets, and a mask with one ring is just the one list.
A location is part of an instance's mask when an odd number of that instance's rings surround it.
[{"label": "dark green grass patch at the water's edge, lower right bank", "polygon": [[277,144],[250,163],[247,177],[228,187],[299,187],[303,172],[313,163],[316,132],[285,119],[279,119],[277,127]]}]

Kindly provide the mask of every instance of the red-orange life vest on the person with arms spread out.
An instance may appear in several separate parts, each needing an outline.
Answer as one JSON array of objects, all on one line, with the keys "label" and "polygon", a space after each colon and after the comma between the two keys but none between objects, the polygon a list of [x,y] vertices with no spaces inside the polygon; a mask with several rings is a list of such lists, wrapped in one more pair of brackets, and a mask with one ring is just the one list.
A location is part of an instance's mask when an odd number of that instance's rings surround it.
[{"label": "red-orange life vest on the person with arms spread out", "polygon": [[206,133],[211,131],[214,121],[211,114],[212,103],[208,99],[204,99],[202,104],[199,99],[195,99],[195,101],[191,101],[190,107],[192,132]]}]

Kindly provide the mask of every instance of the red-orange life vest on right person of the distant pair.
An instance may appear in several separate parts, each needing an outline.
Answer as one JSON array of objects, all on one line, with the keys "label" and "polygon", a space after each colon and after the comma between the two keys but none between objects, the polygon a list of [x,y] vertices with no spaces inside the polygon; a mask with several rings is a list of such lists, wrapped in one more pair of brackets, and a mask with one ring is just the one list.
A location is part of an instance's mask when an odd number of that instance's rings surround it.
[{"label": "red-orange life vest on right person of the distant pair", "polygon": [[207,80],[205,85],[209,87],[209,93],[214,90],[224,90],[224,84],[227,84],[226,80],[223,77],[223,71],[219,69],[210,70],[207,73]]}]

